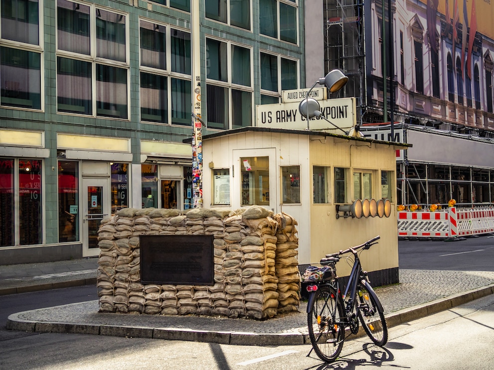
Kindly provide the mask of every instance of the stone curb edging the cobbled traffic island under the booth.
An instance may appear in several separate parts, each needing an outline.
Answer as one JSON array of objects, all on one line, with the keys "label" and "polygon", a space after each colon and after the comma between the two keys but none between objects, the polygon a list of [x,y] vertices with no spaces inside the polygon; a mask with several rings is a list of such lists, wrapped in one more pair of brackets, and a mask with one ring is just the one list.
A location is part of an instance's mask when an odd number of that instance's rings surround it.
[{"label": "stone curb edging the cobbled traffic island under the booth", "polygon": [[[444,311],[463,303],[494,294],[494,284],[468,290],[445,298],[439,298],[425,304],[404,308],[386,315],[388,328],[407,323],[433,313]],[[28,311],[25,311],[28,312]],[[163,327],[98,325],[70,322],[38,322],[19,317],[23,312],[8,316],[7,329],[37,333],[71,333],[108,335],[116,337],[152,338],[165,340],[195,341],[218,344],[235,344],[244,346],[266,345],[302,345],[310,344],[308,334],[295,329],[291,333],[251,333],[251,332],[216,332],[208,330],[191,330]],[[361,328],[362,329],[362,328]],[[356,336],[365,335],[361,330]],[[350,338],[350,339],[351,339]]]}]

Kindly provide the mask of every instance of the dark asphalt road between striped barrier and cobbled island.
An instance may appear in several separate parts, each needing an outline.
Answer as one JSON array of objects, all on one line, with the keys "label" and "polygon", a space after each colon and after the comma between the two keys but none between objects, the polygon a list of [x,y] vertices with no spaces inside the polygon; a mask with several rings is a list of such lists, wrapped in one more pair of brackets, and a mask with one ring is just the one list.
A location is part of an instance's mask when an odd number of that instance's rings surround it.
[{"label": "dark asphalt road between striped barrier and cobbled island", "polygon": [[410,270],[494,271],[494,236],[454,242],[400,240],[399,268]]}]

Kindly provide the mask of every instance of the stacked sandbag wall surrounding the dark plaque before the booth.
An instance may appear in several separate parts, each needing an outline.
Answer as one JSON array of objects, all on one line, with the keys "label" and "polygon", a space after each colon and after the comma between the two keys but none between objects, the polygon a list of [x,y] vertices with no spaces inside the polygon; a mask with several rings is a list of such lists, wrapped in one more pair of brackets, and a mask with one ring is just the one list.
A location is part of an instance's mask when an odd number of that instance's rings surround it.
[{"label": "stacked sandbag wall surrounding the dark plaque before the booth", "polygon": [[[100,312],[222,315],[266,319],[300,300],[296,220],[259,206],[245,210],[133,209],[98,232]],[[214,285],[140,282],[140,235],[214,235]],[[166,248],[165,246],[163,248]]]}]

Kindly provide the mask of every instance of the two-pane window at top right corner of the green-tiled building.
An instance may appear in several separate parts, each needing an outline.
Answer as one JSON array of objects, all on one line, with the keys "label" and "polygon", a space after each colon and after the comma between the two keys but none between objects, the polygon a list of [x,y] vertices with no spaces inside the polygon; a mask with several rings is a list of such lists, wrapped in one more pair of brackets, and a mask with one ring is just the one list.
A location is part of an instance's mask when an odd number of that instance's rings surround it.
[{"label": "two-pane window at top right corner of the green-tiled building", "polygon": [[260,0],[259,9],[260,34],[297,43],[297,6],[294,1]]}]

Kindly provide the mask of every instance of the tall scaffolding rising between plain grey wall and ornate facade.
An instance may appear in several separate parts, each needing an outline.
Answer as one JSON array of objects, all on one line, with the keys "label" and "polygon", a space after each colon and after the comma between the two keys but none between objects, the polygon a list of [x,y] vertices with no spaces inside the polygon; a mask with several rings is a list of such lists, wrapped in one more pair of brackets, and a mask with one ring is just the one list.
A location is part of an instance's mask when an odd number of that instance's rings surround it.
[{"label": "tall scaffolding rising between plain grey wall and ornate facade", "polygon": [[364,2],[324,0],[323,11],[324,73],[338,68],[348,76],[345,89],[338,94],[356,97],[357,122],[362,122],[367,101]]}]

